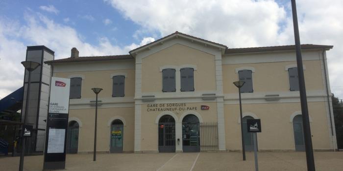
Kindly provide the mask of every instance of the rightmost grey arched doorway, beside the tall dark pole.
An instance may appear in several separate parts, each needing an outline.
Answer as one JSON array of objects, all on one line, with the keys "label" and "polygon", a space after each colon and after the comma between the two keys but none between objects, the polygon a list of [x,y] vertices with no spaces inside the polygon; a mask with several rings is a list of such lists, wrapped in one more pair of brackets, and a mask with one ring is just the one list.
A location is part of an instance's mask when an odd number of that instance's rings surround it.
[{"label": "rightmost grey arched doorway, beside the tall dark pole", "polygon": [[302,128],[302,117],[301,115],[296,115],[293,118],[295,151],[305,151],[304,132]]}]

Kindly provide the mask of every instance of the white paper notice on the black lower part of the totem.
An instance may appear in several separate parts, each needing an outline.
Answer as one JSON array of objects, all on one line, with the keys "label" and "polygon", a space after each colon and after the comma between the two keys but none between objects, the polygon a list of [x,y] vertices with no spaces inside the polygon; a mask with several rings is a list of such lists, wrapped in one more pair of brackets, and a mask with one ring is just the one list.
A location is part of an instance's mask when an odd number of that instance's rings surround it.
[{"label": "white paper notice on the black lower part of the totem", "polygon": [[64,152],[64,137],[66,129],[49,129],[48,153]]}]

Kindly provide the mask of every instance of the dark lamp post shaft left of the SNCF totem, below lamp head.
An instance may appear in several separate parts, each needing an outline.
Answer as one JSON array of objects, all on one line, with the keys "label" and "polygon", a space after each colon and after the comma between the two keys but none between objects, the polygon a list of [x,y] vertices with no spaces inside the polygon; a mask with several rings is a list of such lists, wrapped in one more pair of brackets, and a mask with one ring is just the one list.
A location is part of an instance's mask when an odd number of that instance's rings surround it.
[{"label": "dark lamp post shaft left of the SNCF totem, below lamp head", "polygon": [[27,81],[27,89],[26,89],[26,103],[25,103],[25,115],[24,115],[24,124],[22,125],[22,151],[20,152],[20,161],[19,161],[19,171],[23,171],[24,168],[24,156],[25,156],[25,144],[26,144],[26,138],[24,137],[24,125],[26,124],[27,119],[27,110],[28,110],[28,102],[30,98],[30,82],[31,82],[31,71],[28,70],[28,81]]}]

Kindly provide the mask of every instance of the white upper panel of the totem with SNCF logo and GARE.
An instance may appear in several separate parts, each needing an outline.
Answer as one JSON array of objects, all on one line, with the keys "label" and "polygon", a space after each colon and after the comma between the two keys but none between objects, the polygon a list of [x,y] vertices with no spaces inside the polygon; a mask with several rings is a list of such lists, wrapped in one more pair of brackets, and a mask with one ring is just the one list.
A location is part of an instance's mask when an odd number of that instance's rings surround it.
[{"label": "white upper panel of the totem with SNCF logo and GARE", "polygon": [[70,79],[51,77],[49,113],[68,113]]}]

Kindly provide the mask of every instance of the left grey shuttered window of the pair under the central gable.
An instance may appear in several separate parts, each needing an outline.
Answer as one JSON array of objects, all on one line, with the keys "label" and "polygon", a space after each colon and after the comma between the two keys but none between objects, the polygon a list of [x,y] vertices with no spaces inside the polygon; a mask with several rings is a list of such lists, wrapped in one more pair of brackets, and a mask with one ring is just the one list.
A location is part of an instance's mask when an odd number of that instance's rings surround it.
[{"label": "left grey shuttered window of the pair under the central gable", "polygon": [[162,70],[162,91],[175,92],[175,69]]}]

